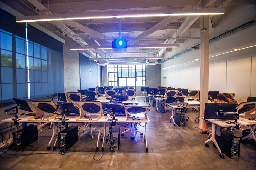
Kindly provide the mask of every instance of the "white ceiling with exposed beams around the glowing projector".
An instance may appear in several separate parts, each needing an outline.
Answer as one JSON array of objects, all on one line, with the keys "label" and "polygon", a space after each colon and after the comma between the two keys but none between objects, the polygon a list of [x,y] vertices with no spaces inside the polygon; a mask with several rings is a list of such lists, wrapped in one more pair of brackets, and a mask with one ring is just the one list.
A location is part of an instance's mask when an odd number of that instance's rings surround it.
[{"label": "white ceiling with exposed beams around the glowing projector", "polygon": [[[25,16],[108,11],[162,10],[182,8],[223,8],[226,4],[253,4],[253,0],[1,0]],[[18,7],[17,7],[18,6]],[[217,19],[214,18],[214,22]],[[81,46],[111,46],[113,39],[125,38],[128,45],[182,44],[189,29],[200,29],[199,16],[134,17],[51,21],[59,32]],[[213,23],[214,24],[214,23]],[[121,35],[119,35],[119,31]],[[177,39],[174,39],[177,38]],[[183,39],[182,39],[183,38]],[[97,57],[155,57],[155,49],[91,50]],[[163,53],[161,53],[163,54]],[[161,55],[160,54],[160,55]],[[95,57],[94,56],[94,57]],[[129,60],[125,60],[129,62]],[[146,62],[147,60],[144,60]],[[115,61],[116,62],[116,61]],[[122,61],[124,62],[124,61]],[[135,62],[134,59],[131,62]],[[139,60],[142,62],[142,60]]]}]

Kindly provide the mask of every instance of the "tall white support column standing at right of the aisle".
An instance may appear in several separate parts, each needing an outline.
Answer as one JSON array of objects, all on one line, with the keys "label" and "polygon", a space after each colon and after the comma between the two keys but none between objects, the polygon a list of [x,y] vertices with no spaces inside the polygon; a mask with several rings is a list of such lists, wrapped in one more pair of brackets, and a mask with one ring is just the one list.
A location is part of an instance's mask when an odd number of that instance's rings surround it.
[{"label": "tall white support column standing at right of the aisle", "polygon": [[204,114],[205,103],[208,103],[208,83],[209,83],[209,16],[200,17],[201,23],[201,51],[200,51],[200,123],[199,128],[203,128],[201,116]]}]

